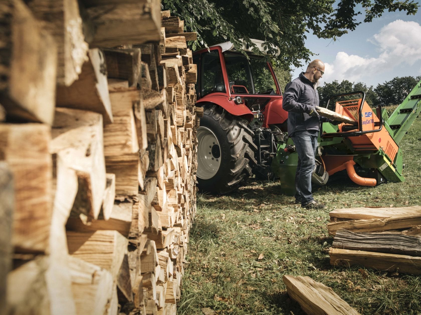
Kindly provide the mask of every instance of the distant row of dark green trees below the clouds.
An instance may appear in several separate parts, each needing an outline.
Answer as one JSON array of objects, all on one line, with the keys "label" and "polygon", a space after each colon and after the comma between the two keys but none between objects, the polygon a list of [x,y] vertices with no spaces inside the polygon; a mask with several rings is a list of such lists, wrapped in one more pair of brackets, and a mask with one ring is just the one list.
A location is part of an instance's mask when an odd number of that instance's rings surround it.
[{"label": "distant row of dark green trees below the clouds", "polygon": [[[371,107],[377,107],[378,104],[381,104],[381,106],[396,105],[400,104],[405,97],[408,96],[409,92],[411,92],[420,79],[421,76],[395,77],[391,81],[377,84],[377,87],[375,88],[372,85],[368,87],[367,84],[362,82],[354,83],[343,80],[339,83],[335,80],[318,87],[317,91],[319,92],[320,106],[323,107],[326,106],[326,103],[332,95],[353,91],[365,92],[365,100]],[[354,98],[360,98],[360,96]],[[331,107],[330,104],[329,107]]]}]

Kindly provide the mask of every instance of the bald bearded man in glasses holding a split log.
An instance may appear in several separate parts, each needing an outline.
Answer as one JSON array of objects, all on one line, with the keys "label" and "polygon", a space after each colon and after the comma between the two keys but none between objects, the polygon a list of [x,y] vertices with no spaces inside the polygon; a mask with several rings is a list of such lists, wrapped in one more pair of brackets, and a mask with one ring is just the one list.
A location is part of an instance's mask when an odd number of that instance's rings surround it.
[{"label": "bald bearded man in glasses holding a split log", "polygon": [[338,124],[320,117],[316,106],[319,106],[317,81],[325,73],[325,64],[316,59],[309,63],[306,72],[301,72],[285,87],[282,107],[288,111],[288,136],[298,153],[298,165],[295,176],[295,202],[301,207],[324,209],[326,206],[314,200],[312,195],[312,172],[315,166],[317,136],[320,121]]}]

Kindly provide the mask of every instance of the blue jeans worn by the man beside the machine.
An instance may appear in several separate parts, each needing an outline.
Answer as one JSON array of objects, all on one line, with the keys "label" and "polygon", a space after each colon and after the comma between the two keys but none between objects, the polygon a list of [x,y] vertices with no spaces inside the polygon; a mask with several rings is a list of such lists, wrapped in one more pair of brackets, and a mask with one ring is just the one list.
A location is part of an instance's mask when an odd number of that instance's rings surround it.
[{"label": "blue jeans worn by the man beside the machine", "polygon": [[302,132],[292,137],[298,153],[298,165],[295,174],[295,199],[301,201],[303,206],[314,200],[312,195],[312,172],[316,163],[317,134],[317,132]]}]

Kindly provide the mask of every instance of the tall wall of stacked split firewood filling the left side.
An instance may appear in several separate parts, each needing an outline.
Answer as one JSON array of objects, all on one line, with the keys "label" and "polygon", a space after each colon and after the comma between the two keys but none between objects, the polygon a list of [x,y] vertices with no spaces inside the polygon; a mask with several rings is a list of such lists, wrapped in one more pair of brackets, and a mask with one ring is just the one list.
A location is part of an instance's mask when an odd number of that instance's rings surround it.
[{"label": "tall wall of stacked split firewood filling the left side", "polygon": [[0,19],[0,313],[176,314],[195,34],[159,0],[4,0]]}]

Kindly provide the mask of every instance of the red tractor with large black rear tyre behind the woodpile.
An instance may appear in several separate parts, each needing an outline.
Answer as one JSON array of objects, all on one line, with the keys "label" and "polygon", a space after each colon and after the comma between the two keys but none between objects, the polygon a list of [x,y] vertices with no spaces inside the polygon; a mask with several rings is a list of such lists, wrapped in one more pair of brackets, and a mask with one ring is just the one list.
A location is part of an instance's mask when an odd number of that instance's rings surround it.
[{"label": "red tractor with large black rear tyre behind the woodpile", "polygon": [[[263,42],[252,39],[263,54]],[[287,131],[288,113],[270,63],[251,47],[231,42],[194,53],[197,104],[203,118],[197,130],[197,181],[202,191],[226,194],[253,174],[273,179],[277,138]],[[279,48],[278,48],[279,51]]]}]

